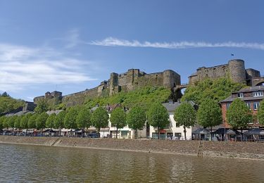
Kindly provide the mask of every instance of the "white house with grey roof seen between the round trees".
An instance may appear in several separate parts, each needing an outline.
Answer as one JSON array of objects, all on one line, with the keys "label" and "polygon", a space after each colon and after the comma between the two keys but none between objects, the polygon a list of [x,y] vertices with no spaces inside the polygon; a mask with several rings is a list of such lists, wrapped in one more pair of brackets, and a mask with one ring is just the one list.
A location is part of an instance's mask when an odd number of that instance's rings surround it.
[{"label": "white house with grey roof seen between the round trees", "polygon": [[[189,101],[195,109],[198,109],[198,106]],[[177,107],[181,105],[180,101],[173,102],[169,101],[168,103],[163,103],[163,106],[167,109],[170,117],[170,124],[165,127],[165,129],[160,130],[161,139],[170,138],[170,139],[184,139],[184,128],[183,126],[177,125],[177,122],[174,120],[174,112]],[[186,136],[188,140],[191,140],[191,132],[194,132],[199,128],[199,125],[194,125],[194,127],[186,128]],[[149,127],[150,138],[158,138],[158,130],[152,126]]]}]

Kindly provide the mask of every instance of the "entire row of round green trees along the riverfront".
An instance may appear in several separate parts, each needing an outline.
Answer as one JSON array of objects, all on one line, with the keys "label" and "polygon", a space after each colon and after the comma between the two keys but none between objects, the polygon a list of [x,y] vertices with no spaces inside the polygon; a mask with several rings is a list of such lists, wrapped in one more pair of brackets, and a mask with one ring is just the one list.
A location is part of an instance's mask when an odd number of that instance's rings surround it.
[{"label": "entire row of round green trees along the riverfront", "polygon": [[[41,110],[39,110],[41,111]],[[254,116],[250,109],[241,99],[235,99],[227,111],[228,124],[237,130],[242,130],[253,121]],[[259,122],[264,124],[264,102],[260,103],[260,109],[256,116]],[[175,110],[174,119],[178,125],[184,127],[184,137],[186,139],[186,128],[193,126],[196,122],[203,127],[220,125],[222,123],[222,111],[218,103],[213,99],[205,99],[199,106],[196,112],[190,103],[182,103]],[[86,106],[78,106],[68,108],[67,111],[62,111],[58,115],[47,115],[42,113],[28,113],[22,116],[12,116],[9,118],[0,118],[0,128],[18,128],[18,129],[42,129],[65,127],[67,129],[96,127],[100,132],[102,127],[108,127],[109,115],[105,108],[96,108],[93,113]],[[135,106],[129,113],[125,113],[122,108],[115,108],[111,113],[111,125],[116,127],[116,135],[118,130],[128,125],[132,130],[142,130],[146,121],[148,125],[158,129],[158,138],[160,130],[169,125],[169,115],[166,108],[161,103],[153,103],[146,112],[141,106]],[[136,135],[137,136],[137,135]]]}]

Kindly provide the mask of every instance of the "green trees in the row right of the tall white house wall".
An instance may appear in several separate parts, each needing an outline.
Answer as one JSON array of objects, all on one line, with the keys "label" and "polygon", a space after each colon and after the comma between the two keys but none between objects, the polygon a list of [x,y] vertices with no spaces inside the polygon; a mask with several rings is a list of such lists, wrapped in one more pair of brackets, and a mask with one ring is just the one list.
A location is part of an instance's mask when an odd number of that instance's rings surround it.
[{"label": "green trees in the row right of the tall white house wall", "polygon": [[[175,121],[184,127],[184,137],[186,139],[186,127],[193,126],[196,122],[203,127],[212,127],[222,123],[222,111],[218,102],[213,99],[204,99],[196,112],[189,103],[182,105],[175,110]],[[249,123],[258,120],[264,125],[264,101],[260,102],[257,115],[246,106],[241,99],[235,99],[227,110],[227,123],[235,130],[243,130]]]}]

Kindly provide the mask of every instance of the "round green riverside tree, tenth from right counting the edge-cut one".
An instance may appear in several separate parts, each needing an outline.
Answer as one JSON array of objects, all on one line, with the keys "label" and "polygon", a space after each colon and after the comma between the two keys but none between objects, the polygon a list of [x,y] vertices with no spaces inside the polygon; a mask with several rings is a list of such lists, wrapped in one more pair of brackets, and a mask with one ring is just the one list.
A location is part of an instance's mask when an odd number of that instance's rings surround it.
[{"label": "round green riverside tree, tenth from right counting the edge-cut one", "polygon": [[[72,129],[77,128],[77,122],[76,122],[77,115],[78,115],[77,107],[69,108],[67,113],[65,114],[64,126],[68,129],[70,129],[70,131]],[[73,136],[73,133],[71,133],[71,135]]]}]

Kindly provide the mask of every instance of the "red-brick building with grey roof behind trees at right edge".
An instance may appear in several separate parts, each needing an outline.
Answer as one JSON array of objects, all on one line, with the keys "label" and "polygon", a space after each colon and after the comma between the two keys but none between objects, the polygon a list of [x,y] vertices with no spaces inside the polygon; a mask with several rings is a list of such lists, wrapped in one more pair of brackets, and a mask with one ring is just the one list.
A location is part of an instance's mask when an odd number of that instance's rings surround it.
[{"label": "red-brick building with grey roof behind trees at right edge", "polygon": [[[256,86],[256,87],[248,87],[245,89],[241,89],[238,92],[233,92],[230,97],[227,99],[221,101],[221,107],[222,107],[222,119],[223,119],[223,125],[224,127],[230,128],[230,125],[227,124],[227,117],[226,113],[228,108],[230,107],[230,104],[234,99],[241,99],[246,103],[246,106],[248,106],[253,115],[256,115],[258,113],[258,108],[260,106],[260,101],[264,99],[263,96],[264,93],[264,86]],[[254,121],[251,126],[258,127],[260,126],[258,123],[258,120]]]}]

